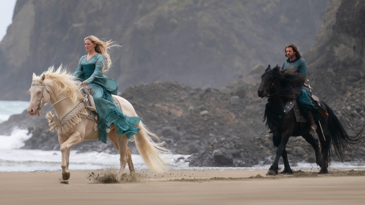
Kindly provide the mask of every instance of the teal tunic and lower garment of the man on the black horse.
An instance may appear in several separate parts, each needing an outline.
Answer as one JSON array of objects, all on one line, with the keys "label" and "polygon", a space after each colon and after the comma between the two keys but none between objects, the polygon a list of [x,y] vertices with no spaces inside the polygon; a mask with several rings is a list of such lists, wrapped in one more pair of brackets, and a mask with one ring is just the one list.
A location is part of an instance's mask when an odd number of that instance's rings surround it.
[{"label": "teal tunic and lower garment of the man on the black horse", "polygon": [[[283,66],[281,66],[281,68],[293,68],[304,77],[307,77],[307,64],[303,58],[296,58],[294,61],[290,61],[290,59],[288,58],[287,61],[283,63]],[[312,112],[314,120],[318,121],[320,119],[319,111],[310,99],[312,97],[312,94],[310,93],[309,89],[305,86],[299,86],[298,89],[301,92],[299,97],[297,98],[301,112],[304,116],[308,116],[309,113]]]}]

